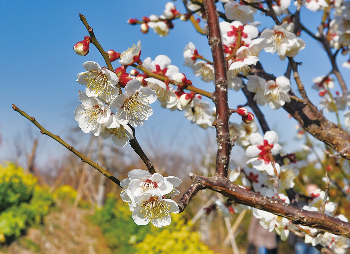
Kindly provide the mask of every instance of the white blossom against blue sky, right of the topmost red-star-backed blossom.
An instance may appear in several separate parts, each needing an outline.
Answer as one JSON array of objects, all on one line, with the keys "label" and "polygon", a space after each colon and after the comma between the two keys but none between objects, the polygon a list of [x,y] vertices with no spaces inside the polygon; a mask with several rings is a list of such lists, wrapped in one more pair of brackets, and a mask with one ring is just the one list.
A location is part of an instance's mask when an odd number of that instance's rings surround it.
[{"label": "white blossom against blue sky, right of the topmost red-star-backed blossom", "polygon": [[294,57],[305,48],[302,39],[297,38],[292,32],[288,32],[281,26],[274,26],[273,30],[266,28],[261,32],[261,38],[267,39],[266,52],[277,52],[281,60],[287,56]]}]

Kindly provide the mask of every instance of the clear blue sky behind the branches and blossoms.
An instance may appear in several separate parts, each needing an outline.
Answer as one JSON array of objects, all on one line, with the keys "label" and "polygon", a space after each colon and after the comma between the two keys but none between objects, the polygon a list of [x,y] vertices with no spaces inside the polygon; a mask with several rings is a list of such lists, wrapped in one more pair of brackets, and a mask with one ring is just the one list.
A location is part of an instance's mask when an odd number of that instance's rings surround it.
[{"label": "clear blue sky behind the branches and blossoms", "polygon": [[[182,51],[188,42],[193,42],[198,52],[211,58],[207,38],[197,34],[189,22],[174,22],[175,27],[167,37],[159,37],[153,30],[144,35],[139,31],[139,26],[127,24],[129,18],[139,18],[151,14],[161,14],[167,1],[115,1],[108,5],[107,2],[97,4],[96,1],[6,1],[2,3],[0,23],[2,24],[2,39],[0,41],[0,67],[2,70],[1,84],[1,120],[0,133],[0,161],[11,158],[14,151],[14,140],[28,135],[32,129],[38,133],[27,119],[14,112],[11,108],[15,103],[20,109],[25,110],[30,116],[34,116],[49,131],[68,138],[70,130],[77,127],[73,118],[75,107],[79,104],[78,90],[84,87],[75,80],[77,73],[84,71],[82,64],[93,60],[104,66],[103,58],[91,45],[87,56],[78,56],[72,50],[73,45],[82,41],[88,35],[79,13],[85,15],[95,35],[105,50],[114,49],[118,52],[131,47],[138,40],[142,42],[141,59],[157,55],[167,55],[172,59],[172,64],[178,66],[180,71],[193,80],[195,86],[212,91],[212,83],[204,83],[192,74],[190,68],[183,66]],[[175,5],[180,12],[184,11],[181,1]],[[312,13],[303,9],[302,19],[310,30],[316,32],[321,12]],[[263,24],[262,30],[272,27],[271,19],[264,15],[255,15],[256,20]],[[315,104],[320,100],[317,93],[311,89],[311,79],[330,71],[330,63],[322,51],[321,44],[302,34],[306,42],[306,49],[302,50],[295,58],[302,61],[300,76],[307,89],[308,95]],[[280,61],[274,54],[261,52],[260,60],[267,72],[276,76],[284,74],[287,60]],[[348,56],[338,58],[339,65],[348,60]],[[117,62],[113,67],[119,67]],[[349,85],[349,70],[339,67],[343,72],[346,84]],[[292,83],[292,88],[296,90]],[[340,87],[336,83],[336,88]],[[230,91],[230,106],[235,108],[238,104],[244,104],[244,95],[240,92]],[[214,105],[213,105],[214,106]],[[213,135],[213,131],[204,131],[196,125],[192,125],[183,116],[183,112],[162,109],[158,102],[152,104],[154,114],[141,128],[137,128],[137,137],[142,144],[155,140],[161,146],[172,147],[174,151],[181,151],[193,141],[199,146],[205,146],[206,133]],[[287,118],[283,109],[273,111],[269,107],[262,107],[271,129],[280,133],[280,140],[288,143],[283,147],[286,152],[298,148],[300,141],[295,141],[296,121]],[[342,113],[341,113],[342,114]],[[334,120],[331,114],[326,114]],[[232,121],[235,121],[233,118]],[[342,118],[343,119],[343,118]],[[239,121],[239,118],[236,119]],[[80,137],[84,137],[80,135]],[[89,135],[85,136],[89,139]],[[65,151],[63,147],[55,144],[49,137],[40,137],[45,143],[39,158],[54,158]],[[111,141],[111,140],[110,140]],[[82,140],[84,142],[84,140]],[[111,141],[112,142],[112,141]],[[131,149],[129,146],[125,149]]]}]

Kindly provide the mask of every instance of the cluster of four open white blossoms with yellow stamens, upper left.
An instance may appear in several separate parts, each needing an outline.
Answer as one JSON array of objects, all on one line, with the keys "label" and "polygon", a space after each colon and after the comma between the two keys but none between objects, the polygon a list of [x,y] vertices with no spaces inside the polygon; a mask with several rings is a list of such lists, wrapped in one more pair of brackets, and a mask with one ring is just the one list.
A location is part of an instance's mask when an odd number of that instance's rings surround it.
[{"label": "cluster of four open white blossoms with yellow stamens, upper left", "polygon": [[[156,93],[149,87],[142,87],[137,79],[128,81],[125,93],[121,93],[114,72],[101,68],[94,61],[85,62],[83,67],[86,71],[78,74],[77,82],[86,88],[79,95],[82,104],[74,112],[80,129],[104,138],[113,135],[114,144],[125,146],[129,137],[133,138],[129,125],[141,126],[153,114],[149,104],[157,99]],[[113,108],[117,109],[114,113]]]}]

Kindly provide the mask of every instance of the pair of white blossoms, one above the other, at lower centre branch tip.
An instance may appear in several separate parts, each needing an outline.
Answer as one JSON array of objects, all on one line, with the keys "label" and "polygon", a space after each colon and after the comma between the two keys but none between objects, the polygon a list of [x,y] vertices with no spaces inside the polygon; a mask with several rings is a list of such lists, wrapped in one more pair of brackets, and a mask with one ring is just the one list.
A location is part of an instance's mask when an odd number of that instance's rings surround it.
[{"label": "pair of white blossoms, one above the other, at lower centre branch tip", "polygon": [[128,203],[134,222],[138,225],[151,222],[156,227],[167,226],[171,223],[171,213],[180,211],[177,203],[171,199],[180,194],[175,187],[181,184],[181,180],[175,176],[164,177],[133,169],[120,184],[123,188],[120,196]]}]

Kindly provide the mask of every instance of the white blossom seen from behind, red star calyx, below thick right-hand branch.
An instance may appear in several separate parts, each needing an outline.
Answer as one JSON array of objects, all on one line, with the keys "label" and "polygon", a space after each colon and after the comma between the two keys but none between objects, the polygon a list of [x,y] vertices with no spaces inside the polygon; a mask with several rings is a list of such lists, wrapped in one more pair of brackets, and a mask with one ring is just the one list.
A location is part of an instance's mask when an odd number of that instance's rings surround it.
[{"label": "white blossom seen from behind, red star calyx, below thick right-hand branch", "polygon": [[273,160],[272,155],[277,155],[281,152],[282,147],[278,144],[278,135],[275,131],[267,131],[262,137],[259,133],[252,133],[249,137],[251,146],[246,149],[246,155],[248,157],[257,157],[247,161],[252,163],[253,168],[260,171],[266,171],[267,174],[274,176],[274,166],[277,173],[280,173],[280,166]]}]

